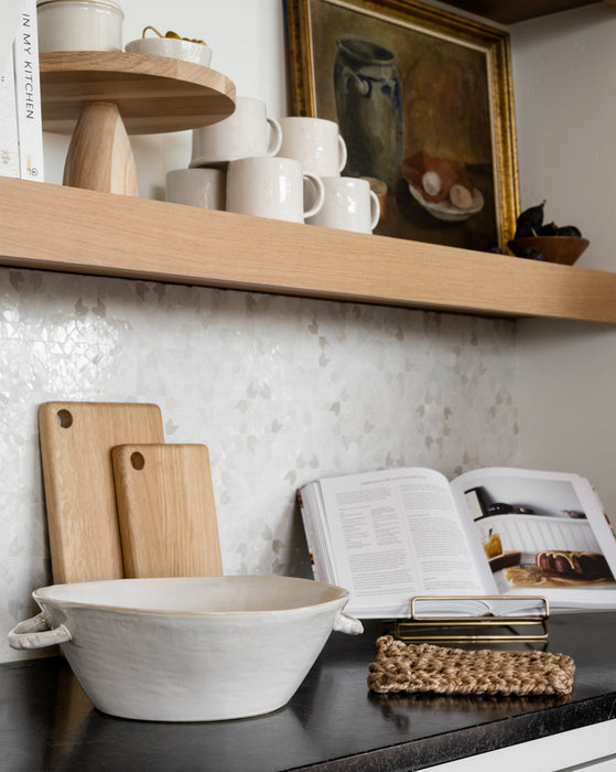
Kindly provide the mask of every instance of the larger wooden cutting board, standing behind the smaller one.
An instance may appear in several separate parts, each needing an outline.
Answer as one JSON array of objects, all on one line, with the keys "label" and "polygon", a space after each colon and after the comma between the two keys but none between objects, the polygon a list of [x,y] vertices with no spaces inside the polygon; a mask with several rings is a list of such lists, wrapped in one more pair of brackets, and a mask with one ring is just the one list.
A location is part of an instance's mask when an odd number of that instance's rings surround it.
[{"label": "larger wooden cutting board, standing behind the smaller one", "polygon": [[39,431],[54,582],[121,579],[111,448],[164,442],[160,408],[45,403]]}]

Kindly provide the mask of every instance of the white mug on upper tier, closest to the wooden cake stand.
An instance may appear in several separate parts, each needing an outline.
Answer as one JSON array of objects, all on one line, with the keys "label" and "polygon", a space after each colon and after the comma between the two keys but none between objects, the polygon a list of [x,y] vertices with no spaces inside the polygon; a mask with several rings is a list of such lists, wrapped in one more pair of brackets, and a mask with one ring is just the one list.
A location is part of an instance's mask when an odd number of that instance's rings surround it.
[{"label": "white mug on upper tier, closest to the wooden cake stand", "polygon": [[193,129],[191,167],[236,161],[255,156],[275,156],[282,132],[275,118],[268,117],[266,103],[237,97],[235,111],[225,120]]}]

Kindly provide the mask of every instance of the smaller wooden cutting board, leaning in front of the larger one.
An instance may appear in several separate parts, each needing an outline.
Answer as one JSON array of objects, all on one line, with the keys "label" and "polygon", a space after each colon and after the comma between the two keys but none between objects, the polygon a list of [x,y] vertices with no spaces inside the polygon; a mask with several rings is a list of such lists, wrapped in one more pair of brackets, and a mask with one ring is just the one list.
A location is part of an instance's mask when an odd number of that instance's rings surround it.
[{"label": "smaller wooden cutting board, leaning in front of the larger one", "polygon": [[126,576],[221,576],[207,448],[126,444],[112,461]]}]

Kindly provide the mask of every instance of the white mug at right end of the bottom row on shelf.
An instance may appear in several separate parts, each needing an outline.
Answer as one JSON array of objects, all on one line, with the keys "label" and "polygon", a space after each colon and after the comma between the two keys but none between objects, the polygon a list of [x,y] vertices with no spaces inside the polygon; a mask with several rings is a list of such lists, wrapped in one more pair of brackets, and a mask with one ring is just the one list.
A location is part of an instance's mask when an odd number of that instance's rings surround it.
[{"label": "white mug at right end of the bottom row on shelf", "polygon": [[324,176],[325,201],[306,218],[311,225],[372,233],[380,216],[379,200],[367,180],[355,176]]}]

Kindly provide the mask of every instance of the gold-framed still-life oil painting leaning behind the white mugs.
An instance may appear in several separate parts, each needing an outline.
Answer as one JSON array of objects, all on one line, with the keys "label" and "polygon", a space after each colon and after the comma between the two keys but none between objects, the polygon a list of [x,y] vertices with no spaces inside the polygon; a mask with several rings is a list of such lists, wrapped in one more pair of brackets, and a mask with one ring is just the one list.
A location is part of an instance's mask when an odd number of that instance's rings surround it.
[{"label": "gold-framed still-life oil painting leaning behind the white mugs", "polygon": [[338,124],[375,233],[490,250],[519,208],[509,36],[415,0],[284,0],[292,115]]}]

